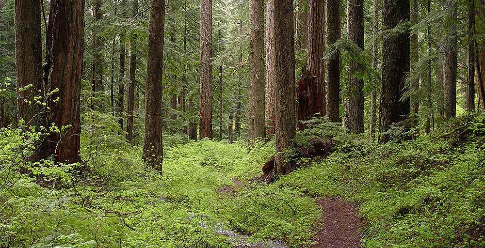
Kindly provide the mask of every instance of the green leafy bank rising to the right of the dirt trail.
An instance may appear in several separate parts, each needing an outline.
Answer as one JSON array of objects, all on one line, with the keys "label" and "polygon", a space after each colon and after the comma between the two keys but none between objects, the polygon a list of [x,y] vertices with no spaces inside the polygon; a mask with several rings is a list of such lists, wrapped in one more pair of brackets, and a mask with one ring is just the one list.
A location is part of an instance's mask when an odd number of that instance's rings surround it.
[{"label": "green leafy bank rising to the right of the dirt trail", "polygon": [[342,142],[276,184],[360,205],[367,248],[485,247],[485,117],[417,140]]}]

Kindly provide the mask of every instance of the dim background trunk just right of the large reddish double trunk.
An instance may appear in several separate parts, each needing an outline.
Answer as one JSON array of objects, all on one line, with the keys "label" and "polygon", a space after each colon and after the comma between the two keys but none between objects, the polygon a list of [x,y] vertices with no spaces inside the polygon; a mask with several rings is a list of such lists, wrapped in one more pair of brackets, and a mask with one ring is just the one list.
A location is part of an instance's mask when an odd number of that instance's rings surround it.
[{"label": "dim background trunk just right of the large reddish double trunk", "polygon": [[101,13],[101,0],[95,0],[94,2],[93,17],[93,78],[91,84],[93,93],[96,93],[97,91],[101,91],[103,86],[103,57],[101,55],[102,47],[99,40],[99,21],[103,17]]}]

